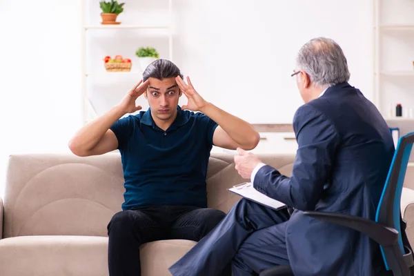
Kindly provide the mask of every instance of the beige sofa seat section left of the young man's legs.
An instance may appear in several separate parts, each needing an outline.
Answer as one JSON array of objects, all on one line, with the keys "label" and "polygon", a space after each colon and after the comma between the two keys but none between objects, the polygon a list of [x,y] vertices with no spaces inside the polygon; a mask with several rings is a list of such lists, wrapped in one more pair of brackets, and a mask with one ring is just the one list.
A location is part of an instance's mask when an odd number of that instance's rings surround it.
[{"label": "beige sofa seat section left of the young man's legs", "polygon": [[10,237],[0,239],[0,275],[108,275],[107,254],[106,237]]}]

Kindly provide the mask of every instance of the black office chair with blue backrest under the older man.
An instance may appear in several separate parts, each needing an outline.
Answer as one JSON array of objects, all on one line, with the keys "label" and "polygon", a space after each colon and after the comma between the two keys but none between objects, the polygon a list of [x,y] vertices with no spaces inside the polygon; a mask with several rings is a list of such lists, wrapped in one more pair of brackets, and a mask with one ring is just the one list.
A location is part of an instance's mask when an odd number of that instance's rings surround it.
[{"label": "black office chair with blue backrest under the older man", "polygon": [[[386,270],[391,270],[394,276],[414,275],[414,260],[411,249],[403,245],[400,229],[400,203],[402,185],[414,143],[414,132],[410,132],[398,140],[397,148],[391,163],[390,170],[382,196],[378,204],[375,221],[342,215],[306,211],[304,215],[315,217],[333,224],[346,226],[357,230],[380,244]],[[290,266],[275,266],[260,273],[260,276],[292,276]]]}]

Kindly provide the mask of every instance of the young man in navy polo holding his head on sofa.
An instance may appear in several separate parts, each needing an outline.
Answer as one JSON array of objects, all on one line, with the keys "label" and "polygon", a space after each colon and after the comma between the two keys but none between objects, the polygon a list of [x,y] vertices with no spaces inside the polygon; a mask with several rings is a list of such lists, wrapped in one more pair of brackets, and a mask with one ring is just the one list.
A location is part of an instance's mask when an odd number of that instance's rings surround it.
[{"label": "young man in navy polo holding his head on sofa", "polygon": [[[225,214],[207,208],[206,172],[213,145],[250,150],[259,134],[246,121],[205,101],[174,63],[158,59],[117,106],[79,130],[75,155],[121,152],[122,211],[108,224],[111,276],[140,275],[139,246],[159,239],[198,242]],[[178,106],[182,93],[186,106]],[[148,99],[141,109],[135,100]],[[188,110],[199,111],[197,113]]]}]

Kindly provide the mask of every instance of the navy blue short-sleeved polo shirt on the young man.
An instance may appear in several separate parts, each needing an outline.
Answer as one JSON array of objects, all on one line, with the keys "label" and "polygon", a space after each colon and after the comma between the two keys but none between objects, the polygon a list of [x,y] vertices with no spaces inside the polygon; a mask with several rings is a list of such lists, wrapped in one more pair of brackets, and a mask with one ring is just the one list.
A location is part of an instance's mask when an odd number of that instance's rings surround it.
[{"label": "navy blue short-sleeved polo shirt on the young man", "polygon": [[206,172],[217,123],[201,112],[179,106],[177,112],[166,131],[155,125],[149,108],[110,127],[124,169],[123,210],[154,205],[207,207]]}]

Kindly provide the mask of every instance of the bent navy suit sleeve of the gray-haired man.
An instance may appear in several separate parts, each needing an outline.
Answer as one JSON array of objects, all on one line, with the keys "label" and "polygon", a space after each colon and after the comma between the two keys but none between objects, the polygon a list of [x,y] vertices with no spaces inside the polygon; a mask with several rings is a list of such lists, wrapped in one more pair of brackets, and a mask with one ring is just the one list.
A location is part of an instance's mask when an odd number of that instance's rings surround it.
[{"label": "bent navy suit sleeve of the gray-haired man", "polygon": [[313,210],[331,175],[339,135],[332,122],[309,105],[297,110],[293,128],[298,149],[292,175],[286,177],[266,165],[257,172],[253,186],[288,206]]}]

